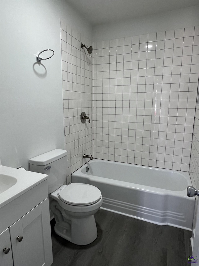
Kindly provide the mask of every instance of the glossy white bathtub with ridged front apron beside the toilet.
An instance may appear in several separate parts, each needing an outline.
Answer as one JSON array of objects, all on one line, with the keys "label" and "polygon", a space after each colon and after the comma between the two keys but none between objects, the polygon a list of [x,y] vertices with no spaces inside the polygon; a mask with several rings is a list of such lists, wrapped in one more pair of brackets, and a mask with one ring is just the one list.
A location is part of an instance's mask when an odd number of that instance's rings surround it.
[{"label": "glossy white bathtub with ridged front apron beside the toilet", "polygon": [[98,187],[102,209],[192,230],[195,198],[187,196],[188,172],[93,159],[72,174],[72,182]]}]

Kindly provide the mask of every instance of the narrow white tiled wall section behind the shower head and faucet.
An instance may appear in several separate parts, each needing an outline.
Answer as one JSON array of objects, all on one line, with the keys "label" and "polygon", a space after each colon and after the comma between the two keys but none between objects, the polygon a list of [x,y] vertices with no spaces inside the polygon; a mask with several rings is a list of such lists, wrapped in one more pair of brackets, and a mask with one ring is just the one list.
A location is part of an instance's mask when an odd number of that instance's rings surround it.
[{"label": "narrow white tiled wall section behind the shower head and faucet", "polygon": [[[61,20],[63,112],[65,149],[68,151],[67,184],[71,173],[88,159],[83,154],[93,152],[93,58],[85,49],[93,45],[90,40]],[[84,111],[90,117],[81,123]]]}]

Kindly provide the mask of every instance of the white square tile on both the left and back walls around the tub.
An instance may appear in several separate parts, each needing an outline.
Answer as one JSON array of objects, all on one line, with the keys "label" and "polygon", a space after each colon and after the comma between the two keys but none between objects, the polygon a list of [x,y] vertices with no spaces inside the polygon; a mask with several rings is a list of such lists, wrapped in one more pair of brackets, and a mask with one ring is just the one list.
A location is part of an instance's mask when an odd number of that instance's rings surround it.
[{"label": "white square tile on both the left and back walls around the tub", "polygon": [[[93,57],[81,42],[93,45]],[[61,46],[67,183],[86,162],[83,154],[92,152],[96,158],[189,170],[198,27],[92,44],[61,21]],[[82,111],[90,124],[80,122]]]}]

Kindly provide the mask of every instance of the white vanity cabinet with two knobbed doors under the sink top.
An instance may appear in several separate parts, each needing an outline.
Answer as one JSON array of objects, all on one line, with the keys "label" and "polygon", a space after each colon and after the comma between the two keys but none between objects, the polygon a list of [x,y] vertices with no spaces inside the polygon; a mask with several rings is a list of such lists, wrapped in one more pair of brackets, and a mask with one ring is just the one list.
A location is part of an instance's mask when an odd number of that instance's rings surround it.
[{"label": "white vanity cabinet with two knobbed doors under the sink top", "polygon": [[0,266],[50,266],[53,263],[46,175],[44,178],[0,206]]}]

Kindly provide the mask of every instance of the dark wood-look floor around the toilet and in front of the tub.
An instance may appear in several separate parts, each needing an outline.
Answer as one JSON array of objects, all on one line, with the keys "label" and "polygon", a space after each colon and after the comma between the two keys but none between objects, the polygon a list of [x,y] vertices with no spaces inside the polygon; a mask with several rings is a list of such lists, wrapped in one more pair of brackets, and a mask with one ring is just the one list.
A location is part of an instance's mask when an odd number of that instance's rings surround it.
[{"label": "dark wood-look floor around the toilet and in front of the tub", "polygon": [[95,214],[98,237],[79,246],[58,236],[51,221],[52,266],[184,266],[190,265],[192,233],[155,225],[113,212]]}]

